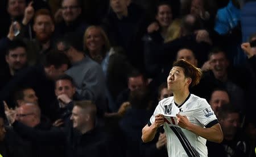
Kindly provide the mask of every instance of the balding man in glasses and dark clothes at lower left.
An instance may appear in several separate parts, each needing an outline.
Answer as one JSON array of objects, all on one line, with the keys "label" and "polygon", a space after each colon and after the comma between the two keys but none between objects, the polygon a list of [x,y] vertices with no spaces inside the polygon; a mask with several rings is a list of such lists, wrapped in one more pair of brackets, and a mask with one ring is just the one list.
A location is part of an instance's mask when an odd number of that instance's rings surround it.
[{"label": "balding man in glasses and dark clothes at lower left", "polygon": [[[9,110],[9,109],[8,109]],[[38,105],[32,102],[23,102],[23,104],[15,110],[15,121],[13,129],[18,133],[22,140],[31,147],[31,156],[61,156],[64,155],[64,146],[57,146],[57,144],[42,144],[27,137],[27,135],[19,132],[23,126],[32,127],[38,131],[52,130],[52,125],[47,119],[41,116],[41,111]],[[10,122],[10,121],[9,121]],[[11,122],[10,122],[11,123]]]}]

